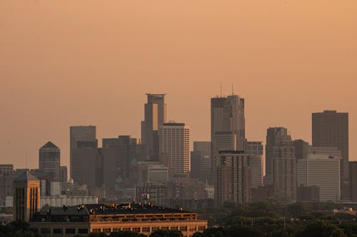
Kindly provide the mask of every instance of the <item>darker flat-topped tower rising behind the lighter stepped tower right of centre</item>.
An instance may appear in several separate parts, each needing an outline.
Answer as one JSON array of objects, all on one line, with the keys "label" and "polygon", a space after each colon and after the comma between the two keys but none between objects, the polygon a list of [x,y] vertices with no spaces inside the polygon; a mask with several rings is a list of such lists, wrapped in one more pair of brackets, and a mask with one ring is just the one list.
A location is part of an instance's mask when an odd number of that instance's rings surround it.
[{"label": "darker flat-topped tower rising behind the lighter stepped tower right of centre", "polygon": [[285,127],[269,127],[266,130],[266,180],[268,184],[273,184],[273,149],[283,139],[288,139],[288,130]]}]

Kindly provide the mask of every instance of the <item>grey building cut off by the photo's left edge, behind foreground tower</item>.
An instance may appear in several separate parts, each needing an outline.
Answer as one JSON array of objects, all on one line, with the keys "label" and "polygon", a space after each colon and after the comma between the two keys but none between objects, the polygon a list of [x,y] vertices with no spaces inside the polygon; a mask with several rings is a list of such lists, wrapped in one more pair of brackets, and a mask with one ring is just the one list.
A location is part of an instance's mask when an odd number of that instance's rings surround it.
[{"label": "grey building cut off by the photo's left edge, behind foreground tower", "polygon": [[6,196],[12,195],[14,181],[14,165],[0,164],[0,206],[5,206]]}]

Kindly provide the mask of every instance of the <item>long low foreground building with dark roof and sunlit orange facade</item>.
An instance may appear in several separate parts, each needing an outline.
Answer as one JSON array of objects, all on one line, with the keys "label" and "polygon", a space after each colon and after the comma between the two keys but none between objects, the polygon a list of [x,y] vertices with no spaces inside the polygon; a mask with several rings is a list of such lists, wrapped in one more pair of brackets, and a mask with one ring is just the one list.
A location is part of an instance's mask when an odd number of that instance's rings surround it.
[{"label": "long low foreground building with dark roof and sunlit orange facade", "polygon": [[178,230],[188,237],[196,231],[203,232],[207,221],[198,220],[193,212],[152,204],[87,204],[41,211],[34,216],[30,228],[41,237],[71,237],[91,232],[109,235],[114,231],[135,231],[149,236],[159,229]]}]

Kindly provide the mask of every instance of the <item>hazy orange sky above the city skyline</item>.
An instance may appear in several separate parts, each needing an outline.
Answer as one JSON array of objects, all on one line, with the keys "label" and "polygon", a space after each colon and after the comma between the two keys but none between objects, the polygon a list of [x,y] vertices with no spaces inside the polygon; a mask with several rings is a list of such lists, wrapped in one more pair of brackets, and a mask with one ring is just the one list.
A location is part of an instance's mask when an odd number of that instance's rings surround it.
[{"label": "hazy orange sky above the city skyline", "polygon": [[0,0],[0,163],[38,167],[69,126],[140,136],[145,93],[208,140],[210,98],[246,99],[246,135],[288,127],[311,142],[311,112],[350,114],[357,159],[357,1]]}]

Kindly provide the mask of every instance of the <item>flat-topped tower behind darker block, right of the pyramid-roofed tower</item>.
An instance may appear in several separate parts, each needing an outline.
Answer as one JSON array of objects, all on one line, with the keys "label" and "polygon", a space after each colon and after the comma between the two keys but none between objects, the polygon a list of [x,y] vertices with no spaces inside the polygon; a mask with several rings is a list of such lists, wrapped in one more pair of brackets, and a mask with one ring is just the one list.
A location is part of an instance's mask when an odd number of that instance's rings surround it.
[{"label": "flat-topped tower behind darker block, right of the pyramid-roofed tower", "polygon": [[74,167],[74,157],[73,151],[78,148],[78,142],[95,142],[96,141],[96,126],[71,126],[70,130],[70,143],[69,143],[69,152],[70,152],[70,176],[73,177],[73,167]]}]

